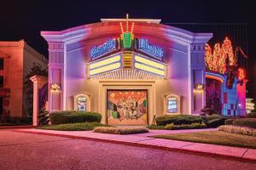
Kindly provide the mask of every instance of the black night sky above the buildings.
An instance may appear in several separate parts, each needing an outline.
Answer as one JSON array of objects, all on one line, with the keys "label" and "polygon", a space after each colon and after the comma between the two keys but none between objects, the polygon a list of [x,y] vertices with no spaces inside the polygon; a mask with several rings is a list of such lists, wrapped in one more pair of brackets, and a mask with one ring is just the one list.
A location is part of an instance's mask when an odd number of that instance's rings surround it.
[{"label": "black night sky above the buildings", "polygon": [[[171,0],[2,0],[0,41],[24,39],[48,57],[47,43],[40,31],[61,31],[99,22],[101,18],[161,19],[162,23],[247,23],[249,34],[250,95],[256,98],[256,8],[253,1]],[[222,41],[222,40],[220,40]]]}]

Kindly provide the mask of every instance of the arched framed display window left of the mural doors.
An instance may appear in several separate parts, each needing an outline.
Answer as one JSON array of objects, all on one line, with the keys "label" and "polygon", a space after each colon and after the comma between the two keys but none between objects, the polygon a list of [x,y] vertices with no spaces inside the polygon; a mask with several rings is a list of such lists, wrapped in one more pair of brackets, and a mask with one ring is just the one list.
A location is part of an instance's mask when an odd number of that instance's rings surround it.
[{"label": "arched framed display window left of the mural doors", "polygon": [[75,111],[90,111],[90,98],[87,94],[78,94],[74,96]]}]

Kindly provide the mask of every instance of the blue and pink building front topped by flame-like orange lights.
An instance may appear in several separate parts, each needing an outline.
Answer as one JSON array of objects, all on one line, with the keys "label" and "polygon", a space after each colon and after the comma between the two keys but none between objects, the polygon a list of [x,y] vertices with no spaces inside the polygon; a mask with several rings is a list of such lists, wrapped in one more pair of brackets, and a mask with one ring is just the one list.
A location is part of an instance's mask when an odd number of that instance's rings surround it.
[{"label": "blue and pink building front topped by flame-like orange lights", "polygon": [[246,73],[237,64],[238,52],[247,58],[240,47],[233,50],[232,42],[225,37],[216,43],[213,51],[206,45],[206,98],[208,108],[224,116],[246,115]]}]

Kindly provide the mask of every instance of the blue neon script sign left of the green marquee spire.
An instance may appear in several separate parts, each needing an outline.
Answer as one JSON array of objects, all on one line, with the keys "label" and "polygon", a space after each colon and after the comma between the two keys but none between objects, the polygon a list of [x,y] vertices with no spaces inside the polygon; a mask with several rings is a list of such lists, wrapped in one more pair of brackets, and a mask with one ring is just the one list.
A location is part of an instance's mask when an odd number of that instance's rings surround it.
[{"label": "blue neon script sign left of the green marquee spire", "polygon": [[100,46],[94,46],[90,49],[90,59],[95,59],[103,54],[107,54],[116,49],[116,40],[109,39],[107,42],[104,42]]}]

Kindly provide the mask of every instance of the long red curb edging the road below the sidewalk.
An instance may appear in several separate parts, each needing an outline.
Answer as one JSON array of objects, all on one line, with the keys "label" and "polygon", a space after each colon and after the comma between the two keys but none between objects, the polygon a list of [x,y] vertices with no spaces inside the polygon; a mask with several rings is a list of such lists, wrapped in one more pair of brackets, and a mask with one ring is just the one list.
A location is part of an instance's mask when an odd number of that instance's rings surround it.
[{"label": "long red curb edging the road below the sidewalk", "polygon": [[124,145],[130,145],[130,146],[137,146],[137,147],[143,147],[143,148],[154,149],[154,150],[178,151],[178,152],[183,152],[183,153],[190,153],[190,154],[194,154],[194,155],[203,155],[203,156],[210,156],[210,157],[218,156],[218,157],[223,157],[226,159],[228,158],[228,159],[236,160],[236,161],[256,162],[256,157],[255,157],[255,159],[253,159],[253,158],[247,158],[247,157],[241,157],[241,156],[231,156],[229,154],[210,153],[210,152],[200,151],[200,150],[170,148],[170,147],[166,147],[166,146],[153,145],[153,144],[138,144],[135,142],[117,141],[117,140],[111,140],[111,139],[95,139],[95,138],[90,138],[90,137],[81,137],[81,136],[74,136],[74,135],[68,135],[68,134],[31,132],[31,131],[25,131],[25,130],[19,130],[19,129],[13,130],[13,132],[41,134],[41,135],[64,137],[64,138],[70,138],[70,139],[84,139],[84,140],[104,142],[104,143],[110,143],[110,144],[124,144]]}]

